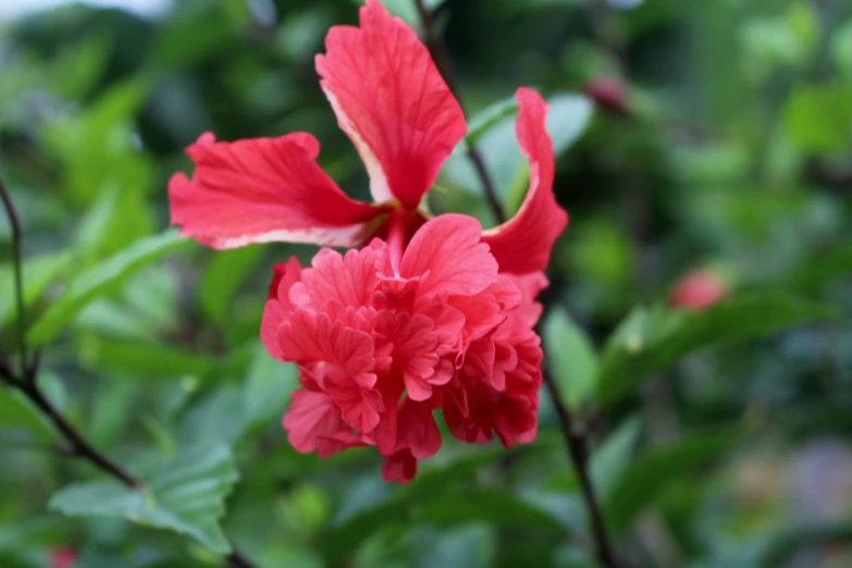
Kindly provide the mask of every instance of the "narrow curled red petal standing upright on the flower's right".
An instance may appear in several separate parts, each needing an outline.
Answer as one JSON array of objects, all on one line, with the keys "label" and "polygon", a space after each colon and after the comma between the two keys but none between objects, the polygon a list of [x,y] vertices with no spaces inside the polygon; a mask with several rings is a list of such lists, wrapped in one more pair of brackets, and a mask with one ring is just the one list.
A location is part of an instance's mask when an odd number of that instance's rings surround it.
[{"label": "narrow curled red petal standing upright on the flower's right", "polygon": [[555,159],[545,119],[547,103],[530,88],[516,94],[519,110],[515,125],[521,151],[530,160],[530,188],[518,213],[492,230],[482,242],[499,263],[501,272],[524,274],[544,270],[551,250],[568,224],[568,213],[553,195]]}]

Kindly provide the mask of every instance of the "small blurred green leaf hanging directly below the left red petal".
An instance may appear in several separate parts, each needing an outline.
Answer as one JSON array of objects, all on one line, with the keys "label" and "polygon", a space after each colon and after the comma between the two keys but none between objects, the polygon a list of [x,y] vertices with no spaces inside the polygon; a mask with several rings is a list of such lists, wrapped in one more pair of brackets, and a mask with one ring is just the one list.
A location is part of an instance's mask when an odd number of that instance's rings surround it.
[{"label": "small blurred green leaf hanging directly below the left red petal", "polygon": [[[263,255],[263,247],[250,246],[217,254],[207,266],[199,296],[207,317],[221,323],[233,309],[239,286]],[[271,277],[271,273],[270,273]]]}]

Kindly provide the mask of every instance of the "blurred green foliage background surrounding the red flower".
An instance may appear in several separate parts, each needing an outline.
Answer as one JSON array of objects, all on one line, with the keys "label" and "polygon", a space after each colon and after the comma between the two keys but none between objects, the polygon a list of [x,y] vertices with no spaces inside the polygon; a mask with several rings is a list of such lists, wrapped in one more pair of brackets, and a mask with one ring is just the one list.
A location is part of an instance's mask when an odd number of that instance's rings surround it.
[{"label": "blurred green foliage background surrounding the red flower", "polygon": [[[280,427],[296,373],[266,355],[258,324],[271,264],[316,249],[145,248],[169,224],[169,176],[190,171],[183,148],[207,131],[310,132],[323,168],[368,197],[313,69],[328,28],[355,23],[357,4],[0,0],[0,175],[24,227],[27,320],[65,298],[34,339],[42,387],[134,471],[224,448],[214,517],[259,566],[595,566],[546,397],[531,446],[445,436],[405,487],[381,481],[372,452],[298,455]],[[410,0],[385,4],[418,27]],[[577,385],[561,375],[596,365],[592,346],[633,306],[676,301],[694,271],[717,295],[785,291],[849,313],[848,0],[428,4],[509,210],[527,172],[506,101],[520,85],[551,101],[555,190],[571,223],[542,330],[569,399]],[[494,223],[461,155],[431,207]],[[0,223],[7,354],[10,247]],[[126,277],[67,299],[69,283],[116,266]],[[557,355],[566,342],[584,357]],[[847,317],[703,349],[655,374],[596,421],[593,474],[627,566],[849,567],[850,436]],[[102,479],[57,440],[0,391],[0,567],[222,565],[221,534],[206,526],[199,538],[192,522],[169,532],[49,509],[59,487]]]}]

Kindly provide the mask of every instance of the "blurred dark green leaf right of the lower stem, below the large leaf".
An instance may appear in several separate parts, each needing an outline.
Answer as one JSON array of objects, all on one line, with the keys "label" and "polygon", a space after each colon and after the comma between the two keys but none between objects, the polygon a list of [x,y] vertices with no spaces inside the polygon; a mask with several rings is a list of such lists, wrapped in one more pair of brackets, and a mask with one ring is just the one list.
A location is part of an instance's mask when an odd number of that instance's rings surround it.
[{"label": "blurred dark green leaf right of the lower stem, below the large leaf", "polygon": [[604,518],[620,533],[674,480],[730,447],[733,429],[693,432],[666,447],[653,448],[629,462],[612,491],[604,494]]}]

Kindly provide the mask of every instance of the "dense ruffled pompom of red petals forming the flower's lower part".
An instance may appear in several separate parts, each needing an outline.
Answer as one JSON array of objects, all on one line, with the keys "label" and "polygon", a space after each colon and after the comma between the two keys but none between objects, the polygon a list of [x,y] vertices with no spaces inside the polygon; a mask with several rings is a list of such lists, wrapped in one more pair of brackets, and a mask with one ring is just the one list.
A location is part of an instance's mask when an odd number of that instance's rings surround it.
[{"label": "dense ruffled pompom of red petals forming the flower's lower part", "polygon": [[440,215],[395,255],[376,238],[345,256],[324,248],[310,268],[276,267],[261,337],[300,369],[284,417],[293,447],[326,457],[376,446],[384,478],[405,482],[441,447],[439,408],[465,442],[531,442],[538,317],[519,279],[499,273],[479,222]]}]

